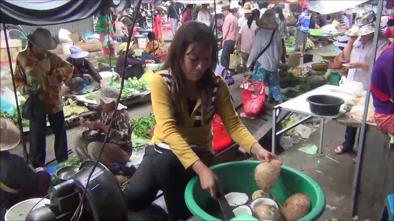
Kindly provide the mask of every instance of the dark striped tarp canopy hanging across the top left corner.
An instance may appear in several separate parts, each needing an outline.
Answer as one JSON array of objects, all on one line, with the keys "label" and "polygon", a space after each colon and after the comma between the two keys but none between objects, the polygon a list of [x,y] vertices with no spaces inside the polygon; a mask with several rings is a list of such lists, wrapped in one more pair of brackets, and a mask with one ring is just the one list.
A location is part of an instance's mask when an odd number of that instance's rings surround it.
[{"label": "dark striped tarp canopy hanging across the top left corner", "polygon": [[32,26],[74,22],[93,16],[104,7],[122,11],[129,0],[1,0],[1,22]]}]

